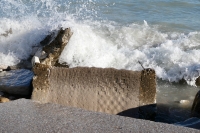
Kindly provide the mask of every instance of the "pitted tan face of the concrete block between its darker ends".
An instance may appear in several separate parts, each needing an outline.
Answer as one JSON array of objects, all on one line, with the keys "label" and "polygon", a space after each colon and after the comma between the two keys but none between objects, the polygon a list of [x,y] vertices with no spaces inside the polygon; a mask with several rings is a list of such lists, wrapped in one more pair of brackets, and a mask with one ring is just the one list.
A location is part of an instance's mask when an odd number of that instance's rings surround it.
[{"label": "pitted tan face of the concrete block between its darker ends", "polygon": [[[39,76],[40,77],[40,76]],[[113,68],[51,68],[46,100],[37,97],[33,81],[32,99],[87,110],[118,114],[139,106],[141,72]],[[40,89],[39,89],[40,90]],[[37,95],[36,95],[37,93]]]}]

